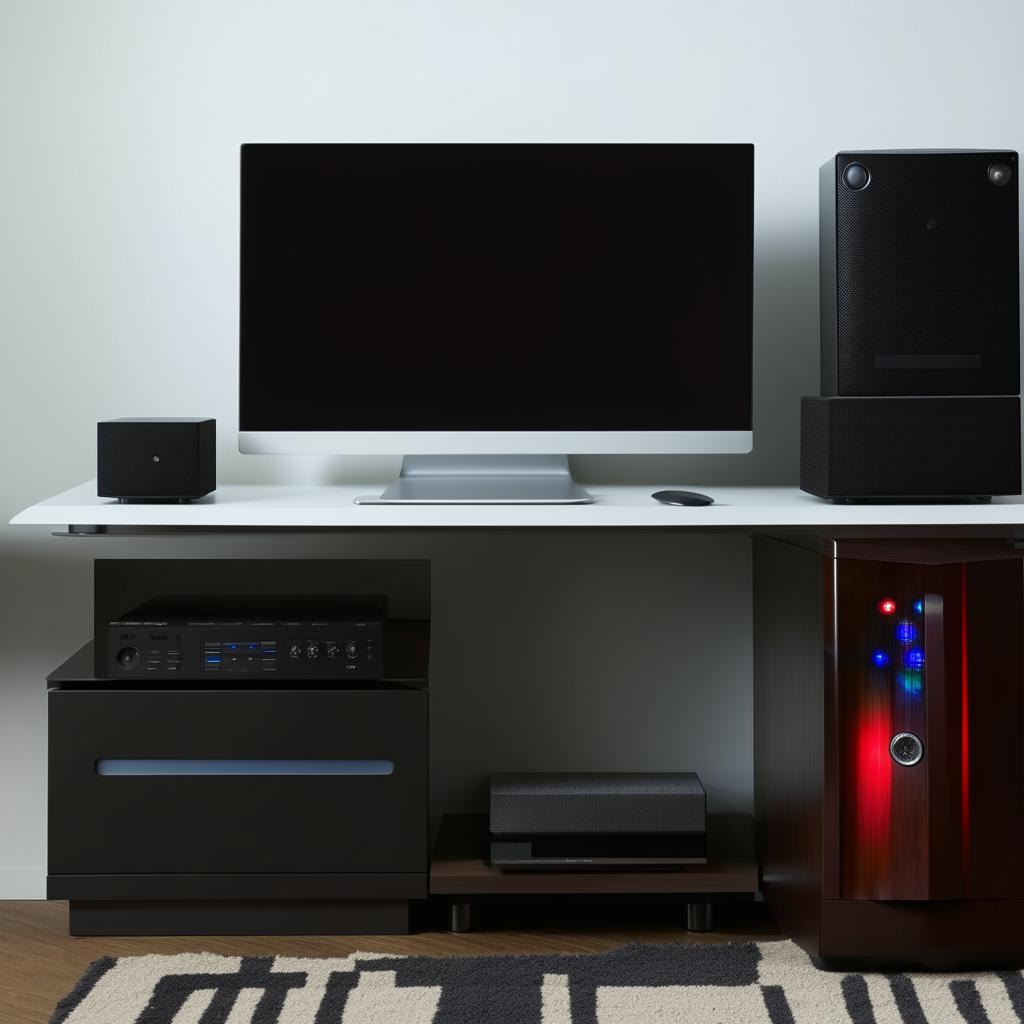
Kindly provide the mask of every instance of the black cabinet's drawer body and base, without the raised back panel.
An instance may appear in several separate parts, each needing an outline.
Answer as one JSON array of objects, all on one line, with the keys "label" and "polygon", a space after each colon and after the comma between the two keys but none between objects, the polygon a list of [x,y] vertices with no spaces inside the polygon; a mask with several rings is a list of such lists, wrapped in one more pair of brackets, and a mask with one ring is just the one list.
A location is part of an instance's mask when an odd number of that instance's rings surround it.
[{"label": "black cabinet's drawer body and base, without the raised back panel", "polygon": [[429,871],[422,689],[52,688],[73,934],[388,933]]}]

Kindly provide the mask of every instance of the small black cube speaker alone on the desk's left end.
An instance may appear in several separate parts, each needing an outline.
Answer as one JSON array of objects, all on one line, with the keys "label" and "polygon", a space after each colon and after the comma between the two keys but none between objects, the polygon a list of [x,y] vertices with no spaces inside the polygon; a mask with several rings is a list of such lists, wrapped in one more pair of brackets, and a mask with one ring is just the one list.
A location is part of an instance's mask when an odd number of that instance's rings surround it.
[{"label": "small black cube speaker alone on the desk's left end", "polygon": [[96,424],[96,494],[186,502],[217,486],[217,421],[120,419]]}]

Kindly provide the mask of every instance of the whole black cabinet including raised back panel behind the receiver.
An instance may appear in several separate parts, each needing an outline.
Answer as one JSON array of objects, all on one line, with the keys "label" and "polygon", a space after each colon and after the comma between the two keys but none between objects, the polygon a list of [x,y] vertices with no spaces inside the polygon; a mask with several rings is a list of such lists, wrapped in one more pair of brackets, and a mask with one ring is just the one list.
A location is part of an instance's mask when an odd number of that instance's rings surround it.
[{"label": "whole black cabinet including raised back panel behind the receiver", "polygon": [[106,679],[87,645],[49,678],[47,895],[79,935],[408,931],[428,893],[429,564],[100,559],[97,638],[225,580],[315,607],[372,596],[385,678]]}]

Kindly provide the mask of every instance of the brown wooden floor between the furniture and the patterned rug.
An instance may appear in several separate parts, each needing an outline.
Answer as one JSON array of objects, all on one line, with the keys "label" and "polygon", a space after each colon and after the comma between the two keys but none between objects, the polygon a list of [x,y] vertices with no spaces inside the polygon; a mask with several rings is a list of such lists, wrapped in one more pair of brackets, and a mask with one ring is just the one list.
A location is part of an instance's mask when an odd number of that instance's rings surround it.
[{"label": "brown wooden floor between the furniture and the patterned rug", "polygon": [[[637,925],[554,924],[528,930],[480,930],[464,935],[420,932],[401,936],[231,936],[79,938],[68,935],[65,903],[0,901],[0,1022],[46,1024],[57,1001],[100,956],[206,950],[226,954],[300,956],[377,952],[465,955],[472,953],[600,952],[629,942],[727,942],[778,938],[760,905],[720,915],[714,932],[693,934],[672,923]],[[520,923],[521,924],[521,923]]]}]

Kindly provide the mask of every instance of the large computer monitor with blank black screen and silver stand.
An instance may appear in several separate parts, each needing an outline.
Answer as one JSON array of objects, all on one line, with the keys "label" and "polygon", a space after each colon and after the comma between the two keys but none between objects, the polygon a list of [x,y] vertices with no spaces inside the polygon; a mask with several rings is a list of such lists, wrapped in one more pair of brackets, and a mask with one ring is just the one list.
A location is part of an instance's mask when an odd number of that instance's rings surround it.
[{"label": "large computer monitor with blank black screen and silver stand", "polygon": [[586,501],[566,455],[751,450],[750,144],[248,144],[241,236],[242,452]]}]

